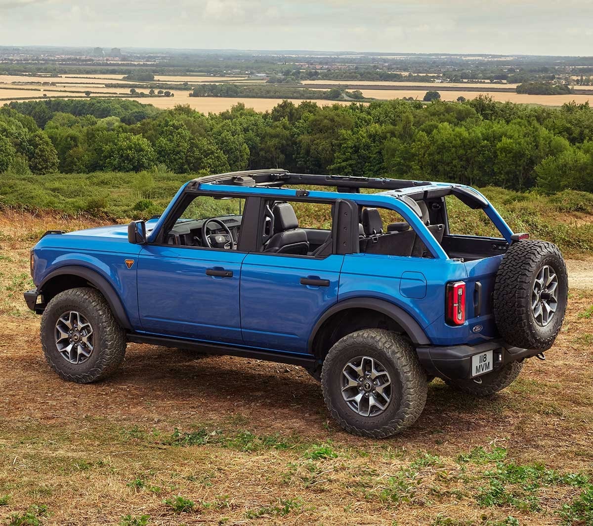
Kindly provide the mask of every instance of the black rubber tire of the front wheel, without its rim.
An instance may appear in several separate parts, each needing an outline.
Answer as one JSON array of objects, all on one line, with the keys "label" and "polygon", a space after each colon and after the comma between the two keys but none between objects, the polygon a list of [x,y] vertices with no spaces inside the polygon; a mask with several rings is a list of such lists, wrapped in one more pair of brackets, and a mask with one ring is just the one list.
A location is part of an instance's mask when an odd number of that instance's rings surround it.
[{"label": "black rubber tire of the front wheel, without its rim", "polygon": [[[81,313],[93,327],[93,352],[80,364],[66,361],[55,344],[56,322],[69,310]],[[71,288],[56,294],[43,311],[40,334],[47,363],[62,379],[76,383],[103,380],[119,367],[126,353],[126,332],[117,323],[104,297],[90,287]]]}]

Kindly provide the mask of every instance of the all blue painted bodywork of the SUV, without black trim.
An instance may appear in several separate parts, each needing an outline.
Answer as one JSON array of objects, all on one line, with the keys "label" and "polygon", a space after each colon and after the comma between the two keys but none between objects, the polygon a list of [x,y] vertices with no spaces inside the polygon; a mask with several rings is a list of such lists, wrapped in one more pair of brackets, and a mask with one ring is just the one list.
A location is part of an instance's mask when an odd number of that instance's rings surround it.
[{"label": "all blue painted bodywork of the SUV, without black trim", "polygon": [[[377,194],[310,191],[307,195],[397,211],[432,258],[375,254],[304,258],[155,244],[165,217],[186,186],[180,188],[160,219],[146,222],[146,245],[128,242],[127,225],[44,236],[33,251],[34,283],[39,288],[51,272],[78,265],[109,282],[133,331],[276,352],[309,352],[311,332],[324,313],[336,303],[356,298],[380,299],[400,307],[416,320],[433,345],[478,344],[498,336],[490,296],[502,256],[468,262],[450,259],[400,198],[422,191],[422,186]],[[430,185],[435,186],[454,185]],[[200,185],[200,192],[251,193],[287,200],[297,197],[297,190],[287,188],[222,184]],[[490,204],[484,211],[510,242],[512,231],[498,212]],[[125,259],[134,264],[129,268]],[[206,275],[208,269],[232,271],[232,277]],[[327,280],[329,286],[303,285],[301,278]],[[467,283],[467,321],[462,326],[449,326],[444,320],[445,285],[461,280]],[[483,287],[480,316],[472,302],[476,281]]]}]

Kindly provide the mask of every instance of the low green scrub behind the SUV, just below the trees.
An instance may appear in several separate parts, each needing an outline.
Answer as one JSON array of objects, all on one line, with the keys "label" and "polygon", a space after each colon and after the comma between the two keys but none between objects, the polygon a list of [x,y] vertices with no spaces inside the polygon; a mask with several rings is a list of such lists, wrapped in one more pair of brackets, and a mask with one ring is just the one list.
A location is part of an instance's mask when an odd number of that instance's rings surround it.
[{"label": "low green scrub behind the SUV, just below the trees", "polygon": [[[162,213],[188,175],[145,171],[135,173],[0,175],[0,208],[29,211],[55,210],[75,216],[87,214],[113,220],[148,219]],[[565,190],[550,196],[535,192],[518,193],[498,187],[481,191],[515,232],[530,232],[533,238],[548,239],[563,250],[593,251],[593,223],[579,221],[579,214],[593,214],[593,196]],[[200,207],[208,214],[228,213],[227,201],[204,198]],[[499,235],[481,210],[470,210],[455,198],[448,200],[449,222],[454,233]],[[301,217],[311,224],[323,218],[313,216],[306,206]],[[567,214],[575,214],[573,217]],[[585,216],[585,217],[587,217]],[[305,219],[303,219],[305,220]],[[28,278],[28,274],[24,274]],[[25,284],[15,284],[21,290]],[[20,288],[19,288],[20,287]]]}]

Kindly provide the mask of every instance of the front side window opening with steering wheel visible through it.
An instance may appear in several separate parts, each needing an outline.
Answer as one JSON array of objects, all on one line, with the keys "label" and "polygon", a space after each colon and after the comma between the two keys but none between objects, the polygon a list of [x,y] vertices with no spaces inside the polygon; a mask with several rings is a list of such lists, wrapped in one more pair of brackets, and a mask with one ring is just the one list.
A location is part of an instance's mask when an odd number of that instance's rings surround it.
[{"label": "front side window opening with steering wheel visible through it", "polygon": [[177,213],[164,233],[168,245],[236,250],[245,199],[198,195]]}]

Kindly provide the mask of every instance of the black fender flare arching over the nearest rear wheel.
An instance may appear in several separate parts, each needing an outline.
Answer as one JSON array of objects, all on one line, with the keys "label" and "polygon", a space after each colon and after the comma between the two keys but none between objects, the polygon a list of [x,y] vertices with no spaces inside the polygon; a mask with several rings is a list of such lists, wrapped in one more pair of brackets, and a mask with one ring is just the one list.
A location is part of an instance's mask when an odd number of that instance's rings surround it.
[{"label": "black fender flare arching over the nearest rear wheel", "polygon": [[321,315],[320,319],[318,319],[317,323],[315,323],[313,331],[311,331],[311,336],[308,342],[309,352],[313,352],[313,341],[317,335],[317,332],[321,326],[323,326],[323,323],[334,314],[346,309],[376,310],[377,312],[390,317],[394,320],[394,322],[397,322],[404,332],[406,332],[406,334],[410,337],[413,344],[431,345],[431,341],[428,339],[426,333],[419,323],[401,307],[398,307],[393,303],[386,302],[385,300],[361,297],[350,298],[348,300],[344,300],[343,302],[334,303],[329,309],[326,310],[326,312],[323,313],[323,315]]}]

